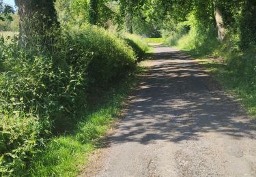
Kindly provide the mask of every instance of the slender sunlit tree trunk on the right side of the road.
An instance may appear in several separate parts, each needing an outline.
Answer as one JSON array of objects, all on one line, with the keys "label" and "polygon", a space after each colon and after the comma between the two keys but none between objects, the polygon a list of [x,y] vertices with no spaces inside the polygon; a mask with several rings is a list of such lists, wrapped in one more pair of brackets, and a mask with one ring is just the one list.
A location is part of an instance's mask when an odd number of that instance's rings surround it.
[{"label": "slender sunlit tree trunk on the right side of the road", "polygon": [[216,20],[216,27],[218,29],[218,40],[222,42],[226,35],[224,23],[223,23],[223,16],[221,11],[218,9],[218,5],[216,5],[215,2],[214,2],[214,15]]}]

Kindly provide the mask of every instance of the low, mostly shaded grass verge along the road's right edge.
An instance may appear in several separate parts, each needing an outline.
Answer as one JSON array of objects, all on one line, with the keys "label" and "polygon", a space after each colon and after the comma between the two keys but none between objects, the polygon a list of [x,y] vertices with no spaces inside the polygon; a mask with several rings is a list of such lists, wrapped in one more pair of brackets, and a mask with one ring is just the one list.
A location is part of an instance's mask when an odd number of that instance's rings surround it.
[{"label": "low, mostly shaded grass verge along the road's right edge", "polygon": [[[203,67],[223,86],[225,91],[234,95],[248,114],[256,118],[256,83],[255,76],[248,77],[237,74],[229,68],[223,59],[214,59],[207,54],[184,51],[203,65]],[[250,55],[250,54],[246,54]]]}]

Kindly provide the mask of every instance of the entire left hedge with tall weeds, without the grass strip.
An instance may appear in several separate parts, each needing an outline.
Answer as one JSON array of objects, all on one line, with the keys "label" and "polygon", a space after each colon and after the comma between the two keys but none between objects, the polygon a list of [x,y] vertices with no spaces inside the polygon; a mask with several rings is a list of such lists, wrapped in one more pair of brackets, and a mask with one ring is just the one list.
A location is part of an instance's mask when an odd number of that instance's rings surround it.
[{"label": "entire left hedge with tall weeds, without the grass strip", "polygon": [[55,41],[46,47],[0,41],[1,175],[27,167],[51,133],[72,130],[89,88],[109,88],[136,63],[132,48],[104,29],[47,35]]}]

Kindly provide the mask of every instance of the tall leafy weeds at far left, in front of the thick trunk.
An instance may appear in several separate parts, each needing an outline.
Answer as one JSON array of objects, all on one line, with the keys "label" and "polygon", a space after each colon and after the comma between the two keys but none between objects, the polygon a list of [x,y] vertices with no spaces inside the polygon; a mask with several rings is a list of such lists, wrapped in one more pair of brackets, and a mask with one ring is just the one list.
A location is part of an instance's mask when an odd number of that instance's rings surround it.
[{"label": "tall leafy weeds at far left, in front of the thick trunk", "polygon": [[[64,67],[63,60],[58,64],[56,61],[61,60],[55,60],[53,54],[51,56],[38,48],[18,50],[16,43],[2,44],[0,50],[3,65],[0,111],[4,113],[0,129],[3,131],[3,144],[8,145],[8,148],[1,148],[0,163],[2,175],[8,175],[29,165],[38,149],[37,142],[48,138],[52,125],[55,132],[60,132],[72,123],[81,106],[76,101],[83,97],[81,93],[85,91],[82,91],[84,85],[81,84],[83,73],[72,65]],[[12,132],[16,137],[5,132]]]}]

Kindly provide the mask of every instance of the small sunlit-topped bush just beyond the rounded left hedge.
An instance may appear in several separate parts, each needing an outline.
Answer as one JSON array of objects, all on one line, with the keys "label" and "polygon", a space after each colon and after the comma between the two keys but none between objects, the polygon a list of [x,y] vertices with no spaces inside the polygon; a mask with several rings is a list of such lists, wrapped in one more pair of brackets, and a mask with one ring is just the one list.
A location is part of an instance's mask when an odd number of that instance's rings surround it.
[{"label": "small sunlit-topped bush just beyond the rounded left hedge", "polygon": [[147,43],[142,39],[142,37],[129,33],[124,33],[121,35],[121,37],[130,47],[132,47],[138,61],[142,61],[146,57],[146,54],[150,48],[147,46]]}]

